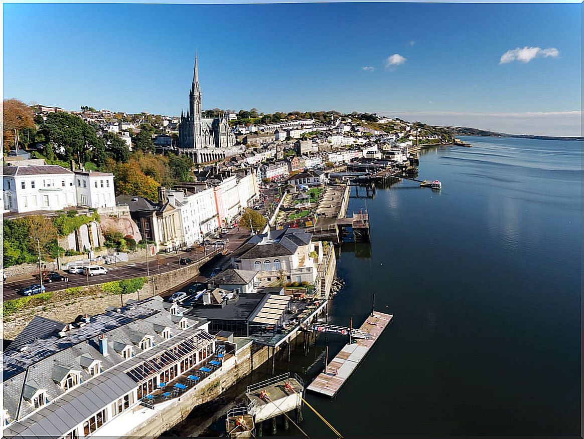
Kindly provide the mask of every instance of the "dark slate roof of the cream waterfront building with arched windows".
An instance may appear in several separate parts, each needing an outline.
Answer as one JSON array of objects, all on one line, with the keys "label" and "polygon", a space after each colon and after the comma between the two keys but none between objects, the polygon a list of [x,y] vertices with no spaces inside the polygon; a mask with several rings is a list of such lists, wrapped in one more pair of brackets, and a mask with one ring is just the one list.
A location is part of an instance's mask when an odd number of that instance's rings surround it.
[{"label": "dark slate roof of the cream waterfront building with arched windows", "polygon": [[241,259],[273,258],[293,255],[301,245],[308,245],[312,234],[294,229],[270,230],[255,235],[231,253],[231,257]]}]

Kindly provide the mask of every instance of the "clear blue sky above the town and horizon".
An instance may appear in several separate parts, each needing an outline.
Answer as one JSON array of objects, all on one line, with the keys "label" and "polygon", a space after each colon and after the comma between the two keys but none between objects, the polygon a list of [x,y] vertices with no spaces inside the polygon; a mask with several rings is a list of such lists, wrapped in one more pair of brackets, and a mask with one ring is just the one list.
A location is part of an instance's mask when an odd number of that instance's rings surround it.
[{"label": "clear blue sky above the town and horizon", "polygon": [[5,4],[4,97],[176,115],[187,107],[198,49],[203,108],[368,111],[580,135],[580,11],[579,4]]}]

